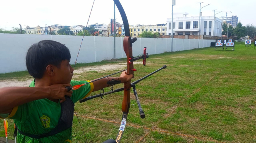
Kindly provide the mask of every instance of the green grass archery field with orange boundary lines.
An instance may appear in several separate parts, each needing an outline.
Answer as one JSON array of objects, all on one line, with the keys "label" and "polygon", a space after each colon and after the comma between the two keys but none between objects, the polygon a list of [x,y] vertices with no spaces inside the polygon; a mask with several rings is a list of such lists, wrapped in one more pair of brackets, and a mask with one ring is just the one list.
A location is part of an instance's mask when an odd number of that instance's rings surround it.
[{"label": "green grass archery field with orange boundary lines", "polygon": [[[134,65],[137,72],[133,81],[163,65],[167,68],[136,86],[145,119],[139,117],[131,93],[127,124],[134,126],[125,127],[122,143],[136,143],[145,135],[139,143],[256,142],[256,49],[237,43],[234,51],[215,51],[209,47],[149,56],[146,66]],[[79,67],[119,62],[125,61],[80,64]],[[74,80],[92,80],[112,72],[115,71],[85,72]],[[0,80],[13,78],[22,80],[29,76],[27,72],[0,74]],[[114,86],[120,87],[122,85]],[[109,94],[103,99],[75,104],[77,114],[85,116],[79,120],[88,142],[115,139],[122,116],[123,94]],[[8,135],[12,138],[13,124],[12,120],[8,121]],[[0,136],[5,136],[3,120],[0,120]],[[76,117],[73,142],[86,142]]]}]

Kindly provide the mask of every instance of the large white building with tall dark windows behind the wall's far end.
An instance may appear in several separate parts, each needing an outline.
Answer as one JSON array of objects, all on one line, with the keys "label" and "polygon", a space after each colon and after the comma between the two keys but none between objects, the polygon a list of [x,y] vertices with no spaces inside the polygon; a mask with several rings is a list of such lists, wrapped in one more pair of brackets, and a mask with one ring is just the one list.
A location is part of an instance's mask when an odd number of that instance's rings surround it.
[{"label": "large white building with tall dark windows behind the wall's far end", "polygon": [[[188,13],[175,13],[173,15],[173,34],[174,35],[198,35],[199,16],[187,17]],[[179,16],[179,17],[177,17]],[[200,35],[218,36],[222,35],[222,21],[214,16],[201,16]],[[167,18],[167,34],[171,35],[172,18]]]}]

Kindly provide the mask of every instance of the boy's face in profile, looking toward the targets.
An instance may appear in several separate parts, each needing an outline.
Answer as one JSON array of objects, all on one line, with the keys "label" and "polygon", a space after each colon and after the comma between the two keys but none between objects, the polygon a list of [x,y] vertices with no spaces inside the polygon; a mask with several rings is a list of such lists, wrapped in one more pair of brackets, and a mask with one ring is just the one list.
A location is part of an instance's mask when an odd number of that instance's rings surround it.
[{"label": "boy's face in profile, looking toward the targets", "polygon": [[69,64],[68,60],[63,60],[60,64],[60,68],[55,69],[54,81],[55,84],[68,84],[73,76],[74,69]]}]

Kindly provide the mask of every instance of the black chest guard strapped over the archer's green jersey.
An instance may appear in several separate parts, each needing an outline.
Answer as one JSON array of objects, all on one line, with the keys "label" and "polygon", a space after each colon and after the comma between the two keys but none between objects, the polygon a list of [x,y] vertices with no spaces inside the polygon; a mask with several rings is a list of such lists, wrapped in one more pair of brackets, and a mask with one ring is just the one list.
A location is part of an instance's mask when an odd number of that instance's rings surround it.
[{"label": "black chest guard strapped over the archer's green jersey", "polygon": [[[41,134],[41,135],[31,135],[31,134],[24,133],[24,132],[20,131],[17,128],[17,125],[15,125],[18,132],[22,135],[29,136],[31,138],[39,139],[39,138],[44,138],[44,137],[47,137],[47,136],[55,135],[59,132],[62,132],[64,130],[67,130],[68,128],[72,127],[75,104],[73,103],[73,101],[70,99],[69,96],[65,96],[65,98],[66,98],[66,101],[60,103],[61,113],[60,113],[60,119],[58,121],[58,124],[50,132],[44,133],[44,134]],[[15,130],[16,134],[17,134],[17,130]]]}]

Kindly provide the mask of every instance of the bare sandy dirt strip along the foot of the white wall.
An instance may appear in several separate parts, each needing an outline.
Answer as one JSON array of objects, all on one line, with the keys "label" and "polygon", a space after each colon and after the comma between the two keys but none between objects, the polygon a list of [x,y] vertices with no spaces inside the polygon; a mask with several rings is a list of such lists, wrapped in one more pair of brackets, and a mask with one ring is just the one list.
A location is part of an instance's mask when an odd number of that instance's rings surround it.
[{"label": "bare sandy dirt strip along the foot of the white wall", "polygon": [[[108,64],[108,65],[99,65],[99,66],[90,66],[85,68],[77,68],[74,70],[73,78],[79,77],[80,73],[84,73],[87,71],[97,71],[97,72],[104,72],[105,70],[117,70],[117,69],[125,69],[127,63],[119,63],[119,64]],[[143,62],[134,62],[134,64],[143,64]],[[149,64],[149,63],[147,63]],[[0,88],[1,87],[10,87],[10,86],[22,86],[28,87],[33,79],[25,80],[25,81],[18,81],[18,80],[2,80],[0,81]]]}]

